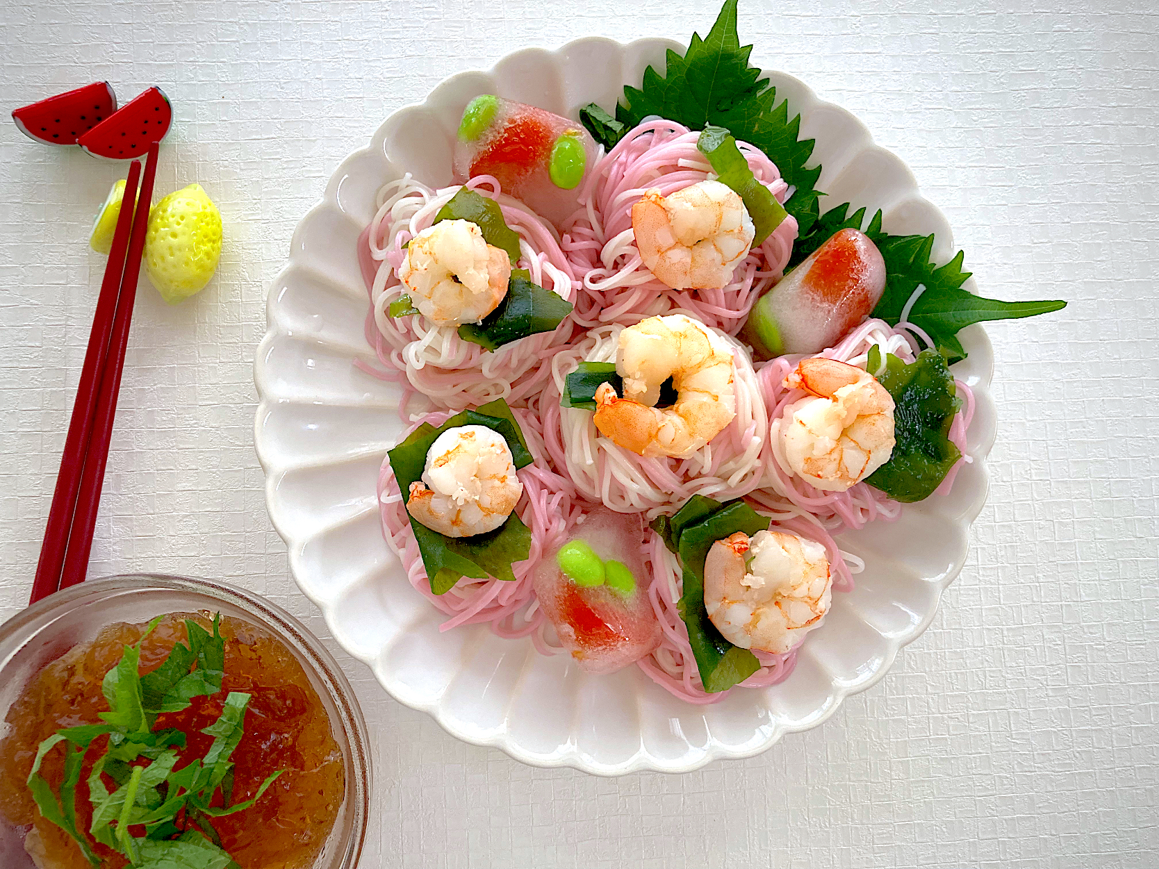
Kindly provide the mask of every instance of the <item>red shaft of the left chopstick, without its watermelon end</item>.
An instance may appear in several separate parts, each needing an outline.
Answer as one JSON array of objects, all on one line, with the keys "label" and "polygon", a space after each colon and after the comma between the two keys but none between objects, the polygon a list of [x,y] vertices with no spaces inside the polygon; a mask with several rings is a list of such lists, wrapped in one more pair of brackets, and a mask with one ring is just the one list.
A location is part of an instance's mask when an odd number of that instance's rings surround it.
[{"label": "red shaft of the left chopstick, without its watermelon end", "polygon": [[49,521],[44,526],[44,545],[41,547],[41,560],[36,565],[30,604],[35,604],[41,598],[54,592],[60,583],[68,531],[76,506],[85,454],[88,452],[93,418],[96,412],[97,385],[104,371],[109,336],[117,309],[117,298],[121,295],[121,278],[125,270],[125,254],[129,250],[133,203],[137,200],[137,181],[140,177],[140,162],[133,160],[129,167],[129,178],[125,181],[121,216],[117,218],[117,227],[112,233],[112,249],[109,251],[109,261],[104,265],[101,293],[96,300],[96,311],[93,313],[93,328],[88,334],[88,349],[85,351],[85,364],[81,367],[80,384],[76,387],[76,400],[73,403],[72,419],[68,422],[64,453],[60,457],[60,470],[57,473],[57,487],[52,492]]}]

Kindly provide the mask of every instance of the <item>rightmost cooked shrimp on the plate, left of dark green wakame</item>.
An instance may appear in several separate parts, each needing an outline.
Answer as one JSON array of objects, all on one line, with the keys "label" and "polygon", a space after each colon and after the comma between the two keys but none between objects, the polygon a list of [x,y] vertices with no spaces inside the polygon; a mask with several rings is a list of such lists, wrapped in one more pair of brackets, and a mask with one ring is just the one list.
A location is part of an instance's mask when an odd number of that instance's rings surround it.
[{"label": "rightmost cooked shrimp on the plate, left of dark green wakame", "polygon": [[785,378],[812,397],[785,408],[781,439],[789,467],[825,491],[845,491],[894,452],[894,397],[872,374],[823,357],[802,359]]}]

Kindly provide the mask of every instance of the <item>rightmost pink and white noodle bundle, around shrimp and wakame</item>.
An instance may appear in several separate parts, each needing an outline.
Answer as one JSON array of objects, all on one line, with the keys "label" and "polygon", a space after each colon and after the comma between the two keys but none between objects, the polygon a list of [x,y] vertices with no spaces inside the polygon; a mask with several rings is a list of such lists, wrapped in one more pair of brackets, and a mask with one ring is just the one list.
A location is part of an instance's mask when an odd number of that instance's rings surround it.
[{"label": "rightmost pink and white noodle bundle, around shrimp and wakame", "polygon": [[[817,356],[865,368],[868,364],[869,348],[877,344],[882,353],[882,364],[884,364],[884,353],[892,353],[903,362],[911,363],[918,349],[914,333],[920,334],[924,341],[928,338],[911,323],[899,323],[895,328],[883,320],[866,320],[841,338],[836,346],[829,348]],[[783,381],[802,358],[800,356],[778,357],[772,362],[764,363],[757,372],[757,382],[760,385],[772,421],[768,426],[768,446],[772,459],[766,462],[765,476],[760,488],[753,492],[753,497],[763,503],[764,498],[772,498],[774,503],[789,502],[801,511],[815,517],[819,525],[831,532],[843,528],[861,528],[874,519],[884,519],[885,521],[897,519],[902,514],[902,505],[868,483],[857,483],[846,491],[822,491],[801,480],[789,467],[780,434],[783,423],[782,414],[789,404],[806,397],[807,393],[801,389],[787,389]],[[881,372],[869,373],[880,374]],[[965,404],[954,417],[949,439],[962,451],[962,459],[946,475],[946,480],[942,481],[935,494],[948,491],[961,465],[972,461],[965,452],[965,429],[974,417],[974,394],[970,392],[970,387],[961,380],[956,380],[955,384],[957,394],[964,399]]]}]

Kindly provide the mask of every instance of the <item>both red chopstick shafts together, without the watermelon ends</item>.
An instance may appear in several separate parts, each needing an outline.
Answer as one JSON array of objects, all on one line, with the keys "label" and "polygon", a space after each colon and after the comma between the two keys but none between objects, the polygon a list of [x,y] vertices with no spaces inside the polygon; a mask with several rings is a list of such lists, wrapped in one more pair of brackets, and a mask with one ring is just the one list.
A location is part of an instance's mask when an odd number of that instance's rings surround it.
[{"label": "both red chopstick shafts together, without the watermelon ends", "polygon": [[[121,373],[129,344],[129,324],[137,298],[137,278],[145,250],[156,158],[158,146],[154,144],[148,149],[144,178],[139,160],[133,160],[129,167],[121,216],[93,314],[93,329],[88,336],[88,350],[85,352],[65,451],[60,457],[60,472],[29,604],[83,582],[88,570],[104,465],[117,414]],[[137,191],[138,178],[140,196]]]}]

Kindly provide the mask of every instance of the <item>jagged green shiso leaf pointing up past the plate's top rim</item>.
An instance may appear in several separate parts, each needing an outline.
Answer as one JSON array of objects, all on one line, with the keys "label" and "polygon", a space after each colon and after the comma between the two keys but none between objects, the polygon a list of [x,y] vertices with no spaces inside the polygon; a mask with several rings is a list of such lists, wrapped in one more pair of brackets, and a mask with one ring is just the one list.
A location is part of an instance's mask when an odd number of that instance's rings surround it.
[{"label": "jagged green shiso leaf pointing up past the plate's top rim", "polygon": [[778,103],[768,79],[749,66],[751,51],[752,46],[742,46],[737,36],[736,0],[726,0],[707,37],[693,34],[683,57],[668,52],[663,76],[649,66],[640,88],[624,88],[615,117],[627,130],[649,115],[690,130],[723,126],[741,141],[757,146],[793,188],[785,209],[796,218],[800,232],[808,232],[817,219],[819,196],[815,185],[821,167],[807,168],[814,140],[797,140],[800,116],[790,119],[787,101]]}]

